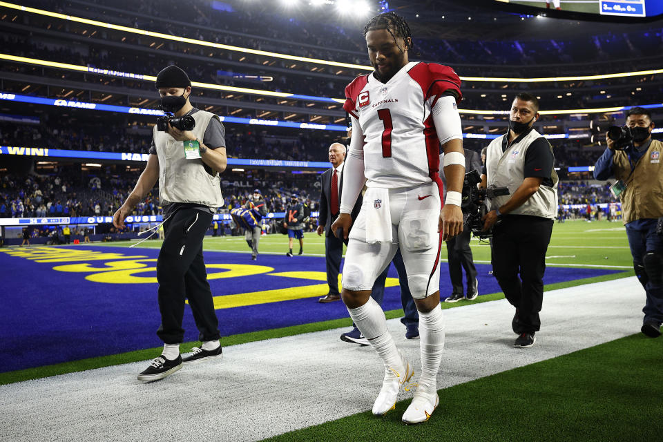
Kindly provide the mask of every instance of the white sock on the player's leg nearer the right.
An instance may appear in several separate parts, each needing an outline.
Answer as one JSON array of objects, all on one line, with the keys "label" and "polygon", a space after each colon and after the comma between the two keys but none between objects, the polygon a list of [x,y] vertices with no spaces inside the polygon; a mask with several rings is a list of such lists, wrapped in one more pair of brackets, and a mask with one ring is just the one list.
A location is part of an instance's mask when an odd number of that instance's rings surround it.
[{"label": "white sock on the player's leg nearer the right", "polygon": [[444,349],[444,317],[442,307],[428,313],[419,311],[419,343],[421,348],[421,376],[419,384],[437,390],[437,372]]}]

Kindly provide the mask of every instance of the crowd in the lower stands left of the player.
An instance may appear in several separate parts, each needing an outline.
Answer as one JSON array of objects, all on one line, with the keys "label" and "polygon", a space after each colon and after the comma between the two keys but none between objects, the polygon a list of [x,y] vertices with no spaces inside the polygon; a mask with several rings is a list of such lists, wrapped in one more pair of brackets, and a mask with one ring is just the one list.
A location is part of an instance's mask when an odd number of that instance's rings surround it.
[{"label": "crowd in the lower stands left of the player", "polygon": [[[56,167],[48,174],[6,174],[0,180],[0,218],[45,218],[112,216],[131,193],[135,173],[106,172],[84,174],[75,166]],[[227,173],[222,182],[225,206],[218,213],[244,206],[254,189],[262,189],[269,211],[285,211],[296,194],[316,211],[318,175],[267,171]],[[134,215],[161,215],[158,188],[140,202]]]}]

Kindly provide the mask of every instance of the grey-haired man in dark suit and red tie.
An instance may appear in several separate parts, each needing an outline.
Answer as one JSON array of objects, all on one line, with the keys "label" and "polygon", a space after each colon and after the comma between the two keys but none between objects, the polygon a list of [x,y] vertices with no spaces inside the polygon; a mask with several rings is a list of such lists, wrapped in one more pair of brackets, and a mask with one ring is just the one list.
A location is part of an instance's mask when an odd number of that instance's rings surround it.
[{"label": "grey-haired man in dark suit and red tie", "polygon": [[[329,146],[329,162],[332,168],[323,173],[320,180],[322,189],[320,189],[320,215],[318,216],[318,235],[325,233],[325,258],[327,260],[327,284],[329,293],[318,299],[318,302],[333,302],[340,300],[338,291],[338,272],[340,271],[340,258],[343,255],[343,239],[336,238],[329,229],[332,222],[338,216],[340,204],[340,193],[343,189],[343,165],[345,161],[346,149],[343,144],[332,143]],[[354,221],[361,209],[362,198],[359,195],[356,204],[352,209],[352,220]]]}]

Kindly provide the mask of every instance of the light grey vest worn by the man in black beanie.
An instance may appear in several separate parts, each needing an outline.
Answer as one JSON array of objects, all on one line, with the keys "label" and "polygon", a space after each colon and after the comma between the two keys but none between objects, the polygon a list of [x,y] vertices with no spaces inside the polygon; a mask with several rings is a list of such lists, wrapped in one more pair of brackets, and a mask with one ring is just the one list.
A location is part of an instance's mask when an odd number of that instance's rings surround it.
[{"label": "light grey vest worn by the man in black beanie", "polygon": [[[202,141],[209,120],[215,115],[198,111],[191,116],[195,119],[195,128],[191,132]],[[154,126],[153,137],[159,158],[159,200],[162,206],[171,202],[223,206],[221,179],[217,171],[209,175],[202,160],[186,160],[182,142],[175,141],[166,132],[157,131],[157,126]]]}]

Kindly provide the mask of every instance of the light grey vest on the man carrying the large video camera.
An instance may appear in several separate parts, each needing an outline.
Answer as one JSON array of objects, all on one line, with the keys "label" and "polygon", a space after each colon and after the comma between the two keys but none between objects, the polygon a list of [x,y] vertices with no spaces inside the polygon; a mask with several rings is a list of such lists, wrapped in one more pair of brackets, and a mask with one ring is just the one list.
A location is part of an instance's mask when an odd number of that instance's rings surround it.
[{"label": "light grey vest on the man carrying the large video camera", "polygon": [[[522,140],[512,144],[504,153],[502,153],[502,135],[497,137],[490,144],[486,151],[486,179],[488,187],[508,187],[509,195],[498,196],[490,200],[490,209],[494,210],[506,203],[515,191],[523,184],[525,180],[525,154],[527,149],[541,134],[537,131],[530,131]],[[553,180],[553,187],[541,184],[539,190],[517,209],[510,211],[513,215],[534,215],[542,218],[553,219],[557,215],[557,172],[553,168],[550,174]]]}]

